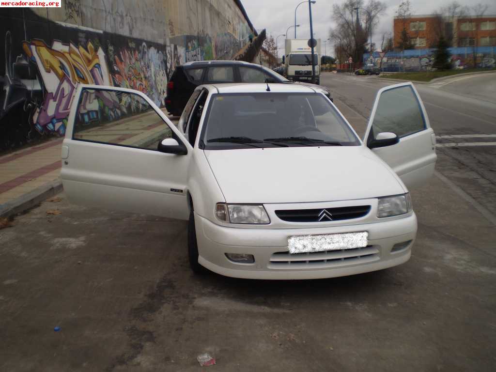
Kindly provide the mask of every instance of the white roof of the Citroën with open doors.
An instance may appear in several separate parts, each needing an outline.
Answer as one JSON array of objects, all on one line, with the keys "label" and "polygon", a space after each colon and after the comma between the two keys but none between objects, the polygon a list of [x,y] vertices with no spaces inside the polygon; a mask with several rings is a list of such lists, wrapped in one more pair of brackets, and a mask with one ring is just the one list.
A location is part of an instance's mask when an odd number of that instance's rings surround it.
[{"label": "white roof of the Citro\u00ebn with open doors", "polygon": [[[316,93],[314,89],[300,84],[269,83],[271,92],[276,93]],[[265,93],[267,92],[266,83],[223,83],[223,84],[204,84],[196,89],[207,89],[210,93]]]}]

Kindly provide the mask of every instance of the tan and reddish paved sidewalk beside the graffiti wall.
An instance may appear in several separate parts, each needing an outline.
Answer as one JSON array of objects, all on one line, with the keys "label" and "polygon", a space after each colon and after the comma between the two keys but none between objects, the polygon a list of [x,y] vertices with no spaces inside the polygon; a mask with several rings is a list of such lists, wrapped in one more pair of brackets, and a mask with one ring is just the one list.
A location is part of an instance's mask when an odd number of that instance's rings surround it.
[{"label": "tan and reddish paved sidewalk beside the graffiti wall", "polygon": [[[178,118],[169,119],[177,125]],[[155,131],[155,126],[150,126],[141,133],[129,135],[116,132],[114,135],[125,136],[127,140]],[[63,138],[54,138],[41,145],[0,156],[0,217],[19,213],[61,190],[62,141]]]}]

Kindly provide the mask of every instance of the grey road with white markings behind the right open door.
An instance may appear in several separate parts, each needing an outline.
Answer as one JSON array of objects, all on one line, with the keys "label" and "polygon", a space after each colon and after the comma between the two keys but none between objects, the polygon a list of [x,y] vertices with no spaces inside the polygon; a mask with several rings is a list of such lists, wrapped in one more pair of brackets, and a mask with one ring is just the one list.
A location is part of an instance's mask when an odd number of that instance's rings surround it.
[{"label": "grey road with white markings behind the right open door", "polygon": [[[324,73],[321,77],[321,84],[331,89],[337,107],[360,135],[377,91],[397,83],[375,75]],[[415,87],[437,135],[436,170],[495,218],[496,73],[457,76]]]}]

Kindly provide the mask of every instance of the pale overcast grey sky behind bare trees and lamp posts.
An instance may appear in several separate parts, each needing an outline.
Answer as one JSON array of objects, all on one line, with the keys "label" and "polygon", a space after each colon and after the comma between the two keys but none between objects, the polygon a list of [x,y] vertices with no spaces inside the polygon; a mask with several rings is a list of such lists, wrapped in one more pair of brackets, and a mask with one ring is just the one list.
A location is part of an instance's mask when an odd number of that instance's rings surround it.
[{"label": "pale overcast grey sky behind bare trees and lamp posts", "polygon": [[[253,26],[260,31],[265,28],[267,34],[277,35],[285,34],[289,26],[295,23],[295,7],[303,0],[242,0],[248,17]],[[367,0],[365,0],[367,2]],[[324,40],[329,38],[329,28],[332,27],[331,10],[332,5],[342,3],[344,0],[316,0],[312,4],[313,32],[315,38]],[[392,32],[393,16],[401,0],[384,0],[386,11],[381,16],[379,25],[372,30],[372,42],[380,48],[381,36],[384,32]],[[452,0],[410,0],[413,14],[430,14]],[[477,2],[487,3],[489,9],[486,14],[496,14],[496,1],[494,0],[458,0],[462,5],[473,6]],[[296,13],[297,38],[310,38],[310,20],[308,3],[301,4]],[[291,38],[295,37],[294,27],[289,30]],[[284,47],[284,37],[278,39],[278,47]],[[322,44],[322,53],[325,53],[324,44]],[[279,50],[281,55],[281,50]],[[327,55],[333,55],[332,43],[327,42]]]}]

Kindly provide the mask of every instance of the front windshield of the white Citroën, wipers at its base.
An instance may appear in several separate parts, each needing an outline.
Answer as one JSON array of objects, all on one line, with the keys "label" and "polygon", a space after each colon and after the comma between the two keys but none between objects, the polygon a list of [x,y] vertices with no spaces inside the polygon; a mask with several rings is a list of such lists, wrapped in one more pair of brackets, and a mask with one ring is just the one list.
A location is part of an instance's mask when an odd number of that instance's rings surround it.
[{"label": "front windshield of the white Citro\u00ebn, wipers at its base", "polygon": [[321,94],[267,92],[213,95],[200,144],[223,150],[356,146],[360,141]]}]

